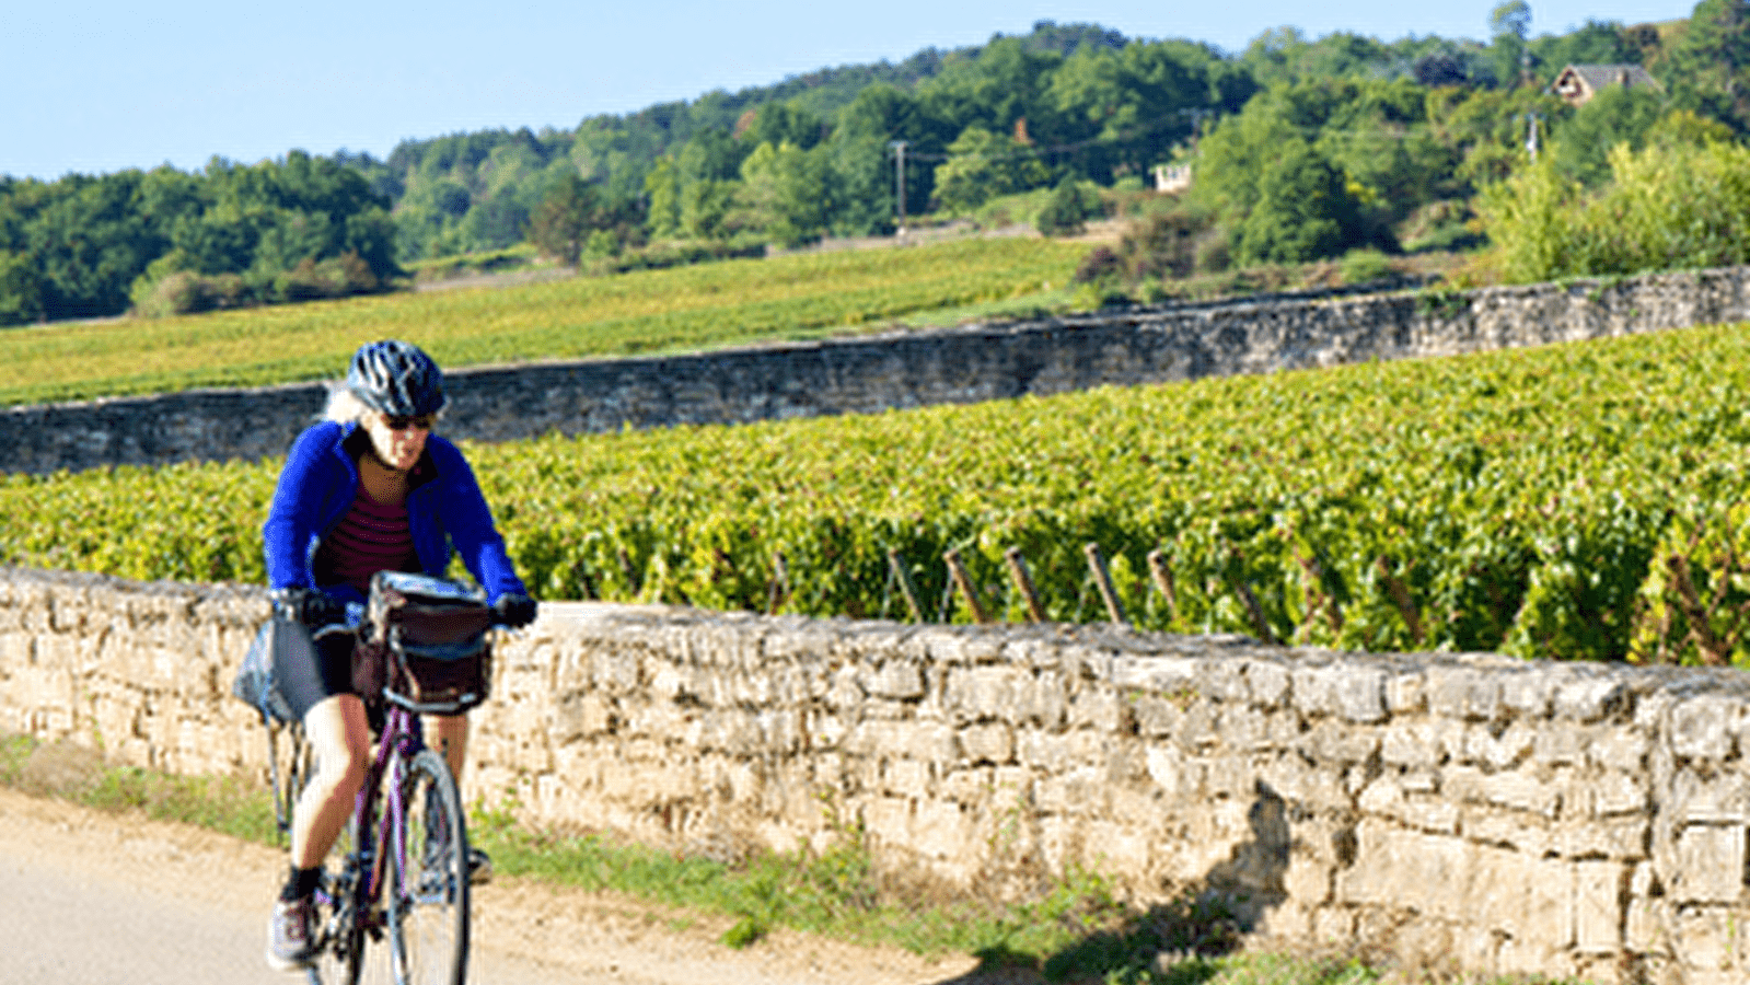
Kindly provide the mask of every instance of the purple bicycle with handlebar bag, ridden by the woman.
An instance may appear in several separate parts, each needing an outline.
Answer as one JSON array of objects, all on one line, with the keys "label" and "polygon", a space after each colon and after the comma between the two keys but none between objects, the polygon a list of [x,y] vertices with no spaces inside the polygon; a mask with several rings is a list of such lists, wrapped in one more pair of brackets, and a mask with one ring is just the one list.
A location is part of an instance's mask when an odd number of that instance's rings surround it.
[{"label": "purple bicycle with handlebar bag, ridden by the woman", "polygon": [[[497,623],[478,590],[399,572],[373,579],[369,605],[359,616],[318,633],[359,633],[355,679],[360,663],[382,661],[382,724],[352,819],[324,861],[315,892],[310,985],[357,985],[368,945],[385,936],[396,985],[462,985],[469,947],[467,824],[455,777],[444,758],[425,745],[420,716],[460,714],[486,698],[486,635]],[[270,723],[275,812],[284,833],[313,763],[303,726],[294,721],[282,728],[290,733],[284,786]]]}]

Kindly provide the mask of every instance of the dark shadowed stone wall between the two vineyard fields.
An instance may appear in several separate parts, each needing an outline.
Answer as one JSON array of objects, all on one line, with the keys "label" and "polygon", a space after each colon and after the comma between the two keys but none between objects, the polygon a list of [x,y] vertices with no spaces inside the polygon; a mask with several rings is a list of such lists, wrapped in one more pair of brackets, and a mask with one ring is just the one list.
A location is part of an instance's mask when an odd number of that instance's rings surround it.
[{"label": "dark shadowed stone wall between the two vineyard fields", "polygon": [[[1101,385],[1454,355],[1750,318],[1750,268],[1617,282],[1185,304],[700,355],[448,374],[453,437],[877,413]],[[340,373],[336,366],[336,374]],[[0,471],[282,455],[317,383],[0,409]]]}]

